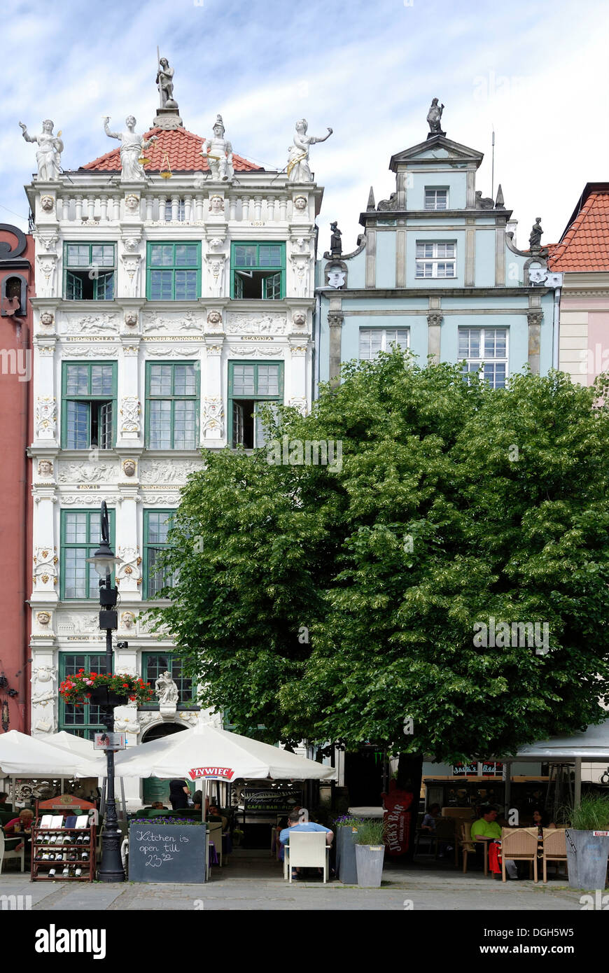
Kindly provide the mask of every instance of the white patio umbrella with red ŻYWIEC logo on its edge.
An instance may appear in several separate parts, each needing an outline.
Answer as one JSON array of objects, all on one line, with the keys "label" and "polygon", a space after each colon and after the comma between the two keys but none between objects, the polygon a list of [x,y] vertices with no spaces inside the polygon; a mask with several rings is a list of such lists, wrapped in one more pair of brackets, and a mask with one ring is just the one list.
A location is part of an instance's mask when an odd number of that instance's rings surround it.
[{"label": "white patio umbrella with red \u017bYWIEC logo on its edge", "polygon": [[115,773],[124,777],[186,777],[231,782],[238,777],[322,780],[334,775],[335,769],[269,743],[202,723],[194,730],[142,743],[117,754]]}]

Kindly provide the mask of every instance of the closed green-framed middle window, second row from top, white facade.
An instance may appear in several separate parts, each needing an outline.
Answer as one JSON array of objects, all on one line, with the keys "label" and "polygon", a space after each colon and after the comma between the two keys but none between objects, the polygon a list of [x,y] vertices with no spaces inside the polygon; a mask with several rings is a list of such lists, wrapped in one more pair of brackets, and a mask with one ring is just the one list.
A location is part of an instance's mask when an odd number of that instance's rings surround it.
[{"label": "closed green-framed middle window, second row from top, white facade", "polygon": [[196,450],[199,363],[146,362],[146,448]]}]

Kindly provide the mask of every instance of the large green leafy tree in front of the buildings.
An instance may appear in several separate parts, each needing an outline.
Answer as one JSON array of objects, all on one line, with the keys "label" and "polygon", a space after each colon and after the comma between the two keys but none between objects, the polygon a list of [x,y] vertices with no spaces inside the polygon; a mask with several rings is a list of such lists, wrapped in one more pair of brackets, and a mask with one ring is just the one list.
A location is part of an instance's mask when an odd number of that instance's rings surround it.
[{"label": "large green leafy tree in front of the buildings", "polygon": [[[561,374],[491,389],[396,350],[345,366],[311,414],[268,414],[278,444],[210,454],[182,493],[172,603],[155,609],[204,703],[269,740],[437,759],[599,722],[606,393]],[[301,462],[306,441],[341,457]],[[481,645],[491,619],[504,635]]]}]

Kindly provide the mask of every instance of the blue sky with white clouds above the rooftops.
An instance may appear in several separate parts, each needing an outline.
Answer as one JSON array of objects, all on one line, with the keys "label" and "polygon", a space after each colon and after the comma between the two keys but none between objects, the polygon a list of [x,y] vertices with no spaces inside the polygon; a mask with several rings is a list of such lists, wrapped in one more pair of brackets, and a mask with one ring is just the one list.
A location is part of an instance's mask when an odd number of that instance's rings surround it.
[{"label": "blue sky with white clouds above the rooftops", "polygon": [[310,151],[324,198],[320,249],[338,220],[355,248],[371,185],[395,189],[389,159],[424,141],[433,97],[448,138],[484,152],[477,188],[495,183],[528,247],[564,231],[587,182],[609,181],[606,0],[4,0],[0,105],[0,218],[25,228],[23,185],[39,132],[54,120],[62,165],[78,168],[117,143],[127,114],[137,130],[158,105],[157,46],[175,70],[184,125],[211,134],[218,113],[234,152],[281,169],[298,119],[334,133]]}]

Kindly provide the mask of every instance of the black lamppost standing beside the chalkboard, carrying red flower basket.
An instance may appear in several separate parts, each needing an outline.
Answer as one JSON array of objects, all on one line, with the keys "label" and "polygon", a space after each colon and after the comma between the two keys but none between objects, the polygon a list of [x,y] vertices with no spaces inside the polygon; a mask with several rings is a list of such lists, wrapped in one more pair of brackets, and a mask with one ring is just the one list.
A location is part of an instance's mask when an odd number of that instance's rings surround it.
[{"label": "black lamppost standing beside the chalkboard, carrying red flower basket", "polygon": [[[112,568],[118,562],[114,551],[110,547],[110,529],[108,525],[108,508],[106,501],[101,502],[101,543],[92,558],[87,559],[100,575],[99,582],[99,628],[106,632],[106,671],[113,671],[112,631],[119,627],[117,612],[118,589],[110,582]],[[98,695],[98,694],[96,694]],[[114,706],[111,700],[112,691],[106,690],[105,702],[99,703],[101,722],[110,733],[114,730]],[[117,818],[117,806],[114,798],[114,750],[106,749],[108,780],[106,790],[106,819],[101,837],[101,863],[99,867],[100,882],[125,882],[125,870],[121,861],[121,832]]]}]

